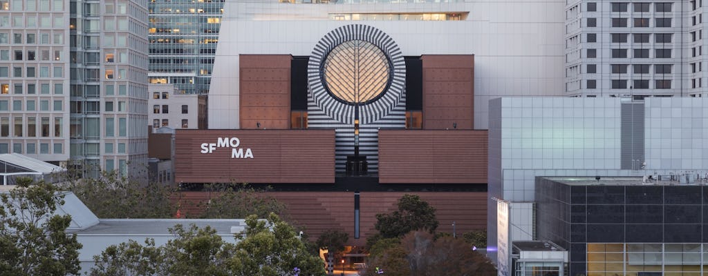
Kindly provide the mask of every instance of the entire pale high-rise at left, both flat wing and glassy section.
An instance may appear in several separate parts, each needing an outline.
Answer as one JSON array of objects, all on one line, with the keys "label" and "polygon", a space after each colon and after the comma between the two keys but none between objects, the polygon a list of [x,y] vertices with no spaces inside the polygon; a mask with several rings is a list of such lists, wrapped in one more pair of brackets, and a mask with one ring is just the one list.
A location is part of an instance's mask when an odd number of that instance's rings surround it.
[{"label": "entire pale high-rise at left, both flat wing and glassy section", "polygon": [[146,4],[0,1],[0,79],[0,152],[89,176],[147,164]]}]

